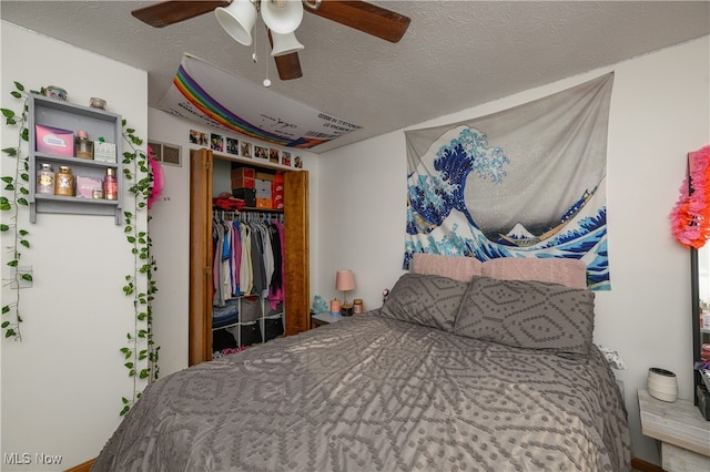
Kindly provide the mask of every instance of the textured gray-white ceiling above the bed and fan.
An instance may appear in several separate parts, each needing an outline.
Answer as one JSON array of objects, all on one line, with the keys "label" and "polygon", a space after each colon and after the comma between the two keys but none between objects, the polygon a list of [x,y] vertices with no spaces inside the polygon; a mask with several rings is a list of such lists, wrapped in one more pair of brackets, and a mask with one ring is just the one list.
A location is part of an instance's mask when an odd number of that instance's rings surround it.
[{"label": "textured gray-white ceiling above the bed and fan", "polygon": [[214,14],[154,29],[130,11],[145,1],[6,1],[3,20],[148,71],[149,101],[170,88],[187,52],[233,75],[363,126],[332,148],[710,34],[709,1],[374,1],[412,19],[393,44],[304,13],[304,76],[280,81]]}]

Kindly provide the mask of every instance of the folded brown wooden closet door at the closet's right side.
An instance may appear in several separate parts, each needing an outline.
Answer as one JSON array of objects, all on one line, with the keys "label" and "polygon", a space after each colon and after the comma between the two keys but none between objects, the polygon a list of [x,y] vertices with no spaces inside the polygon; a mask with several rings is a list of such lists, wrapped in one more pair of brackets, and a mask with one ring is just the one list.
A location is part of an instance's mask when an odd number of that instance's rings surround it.
[{"label": "folded brown wooden closet door at the closet's right side", "polygon": [[311,273],[308,253],[308,173],[284,175],[284,259],[286,296],[286,336],[310,328]]}]

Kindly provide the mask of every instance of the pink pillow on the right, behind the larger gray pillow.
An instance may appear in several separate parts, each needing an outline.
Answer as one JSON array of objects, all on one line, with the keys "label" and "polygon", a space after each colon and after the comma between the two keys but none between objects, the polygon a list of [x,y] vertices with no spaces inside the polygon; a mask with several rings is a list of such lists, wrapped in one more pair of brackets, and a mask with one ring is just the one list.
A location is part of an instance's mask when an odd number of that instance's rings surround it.
[{"label": "pink pillow on the right, behind the larger gray pillow", "polygon": [[570,288],[587,288],[587,265],[567,257],[499,257],[483,263],[483,275],[499,280],[538,280]]}]

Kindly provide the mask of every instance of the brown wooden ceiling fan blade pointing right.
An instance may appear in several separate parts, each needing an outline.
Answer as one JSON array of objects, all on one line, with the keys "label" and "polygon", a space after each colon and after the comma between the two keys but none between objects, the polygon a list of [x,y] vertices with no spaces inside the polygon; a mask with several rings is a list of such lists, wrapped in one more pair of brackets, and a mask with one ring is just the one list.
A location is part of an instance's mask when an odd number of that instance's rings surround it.
[{"label": "brown wooden ceiling fan blade pointing right", "polygon": [[305,0],[304,10],[389,42],[398,42],[410,19],[392,10],[364,1],[323,0],[317,9]]}]

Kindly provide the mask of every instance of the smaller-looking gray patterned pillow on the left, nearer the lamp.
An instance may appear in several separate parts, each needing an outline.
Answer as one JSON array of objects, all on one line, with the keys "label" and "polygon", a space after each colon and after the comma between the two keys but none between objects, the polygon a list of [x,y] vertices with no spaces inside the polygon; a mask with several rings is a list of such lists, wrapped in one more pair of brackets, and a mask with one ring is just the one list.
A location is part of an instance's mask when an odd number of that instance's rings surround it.
[{"label": "smaller-looking gray patterned pillow on the left, nearer the lamp", "polygon": [[448,277],[405,274],[387,296],[381,315],[452,331],[468,284]]}]

